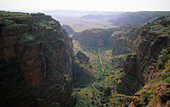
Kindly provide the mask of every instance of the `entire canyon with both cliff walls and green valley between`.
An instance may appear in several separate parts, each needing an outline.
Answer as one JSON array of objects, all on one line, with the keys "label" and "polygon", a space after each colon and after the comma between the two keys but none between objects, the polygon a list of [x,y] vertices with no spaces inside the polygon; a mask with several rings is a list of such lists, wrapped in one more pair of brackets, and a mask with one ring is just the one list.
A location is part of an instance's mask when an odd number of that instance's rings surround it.
[{"label": "entire canyon with both cliff walls and green valley between", "polygon": [[0,11],[0,106],[170,106],[169,14],[75,32],[43,13]]}]

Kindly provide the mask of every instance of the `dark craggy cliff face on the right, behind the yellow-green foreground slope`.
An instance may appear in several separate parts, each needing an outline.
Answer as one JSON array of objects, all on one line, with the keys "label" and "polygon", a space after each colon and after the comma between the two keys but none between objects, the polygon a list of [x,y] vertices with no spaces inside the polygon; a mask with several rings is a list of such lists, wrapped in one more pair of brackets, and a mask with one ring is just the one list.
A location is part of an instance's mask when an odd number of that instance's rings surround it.
[{"label": "dark craggy cliff face on the right, behind the yellow-green foreground slope", "polygon": [[[131,46],[130,48],[137,48],[137,54],[128,56],[124,61],[124,73],[117,85],[119,93],[133,94],[154,78],[153,75],[157,72],[154,63],[157,63],[162,49],[170,51],[170,38],[166,32],[169,30],[167,28],[169,24],[169,17],[162,17],[145,25],[138,37],[132,35],[134,39],[131,38],[131,40],[138,42],[129,41],[129,44],[138,44],[137,47]],[[158,26],[159,29],[156,29]],[[164,29],[164,31],[162,32],[161,29]]]}]

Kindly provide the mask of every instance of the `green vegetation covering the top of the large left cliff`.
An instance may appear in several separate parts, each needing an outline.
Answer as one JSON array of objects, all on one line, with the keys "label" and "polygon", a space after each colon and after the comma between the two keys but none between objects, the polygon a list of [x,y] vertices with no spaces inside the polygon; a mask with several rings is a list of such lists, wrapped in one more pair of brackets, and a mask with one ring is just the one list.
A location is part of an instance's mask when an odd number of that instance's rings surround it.
[{"label": "green vegetation covering the top of the large left cliff", "polygon": [[[20,33],[21,35],[17,38],[18,43],[33,41],[39,44],[43,40],[40,37],[45,35],[44,28],[57,29],[60,28],[58,26],[60,26],[59,22],[43,13],[29,14],[0,11],[0,31],[8,30],[7,34]],[[36,30],[33,31],[32,29]]]}]

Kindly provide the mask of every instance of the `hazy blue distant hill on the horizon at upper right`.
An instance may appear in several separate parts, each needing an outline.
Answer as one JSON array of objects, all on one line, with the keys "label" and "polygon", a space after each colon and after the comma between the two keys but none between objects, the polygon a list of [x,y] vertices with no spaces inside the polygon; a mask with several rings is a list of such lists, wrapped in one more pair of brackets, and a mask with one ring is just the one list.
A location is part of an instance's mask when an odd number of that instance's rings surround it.
[{"label": "hazy blue distant hill on the horizon at upper right", "polygon": [[140,11],[127,12],[109,20],[114,26],[123,26],[126,24],[142,25],[151,22],[158,17],[170,15],[170,11]]}]

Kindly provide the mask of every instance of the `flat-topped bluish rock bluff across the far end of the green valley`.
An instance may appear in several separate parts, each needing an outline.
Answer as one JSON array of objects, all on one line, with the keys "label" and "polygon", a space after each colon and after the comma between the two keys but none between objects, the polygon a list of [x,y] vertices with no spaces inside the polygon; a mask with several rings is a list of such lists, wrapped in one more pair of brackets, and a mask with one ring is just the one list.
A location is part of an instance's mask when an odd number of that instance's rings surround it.
[{"label": "flat-topped bluish rock bluff across the far end of the green valley", "polygon": [[80,33],[75,33],[73,39],[78,40],[84,46],[113,46],[114,42],[134,27],[134,25],[125,25],[109,29],[87,29]]}]

